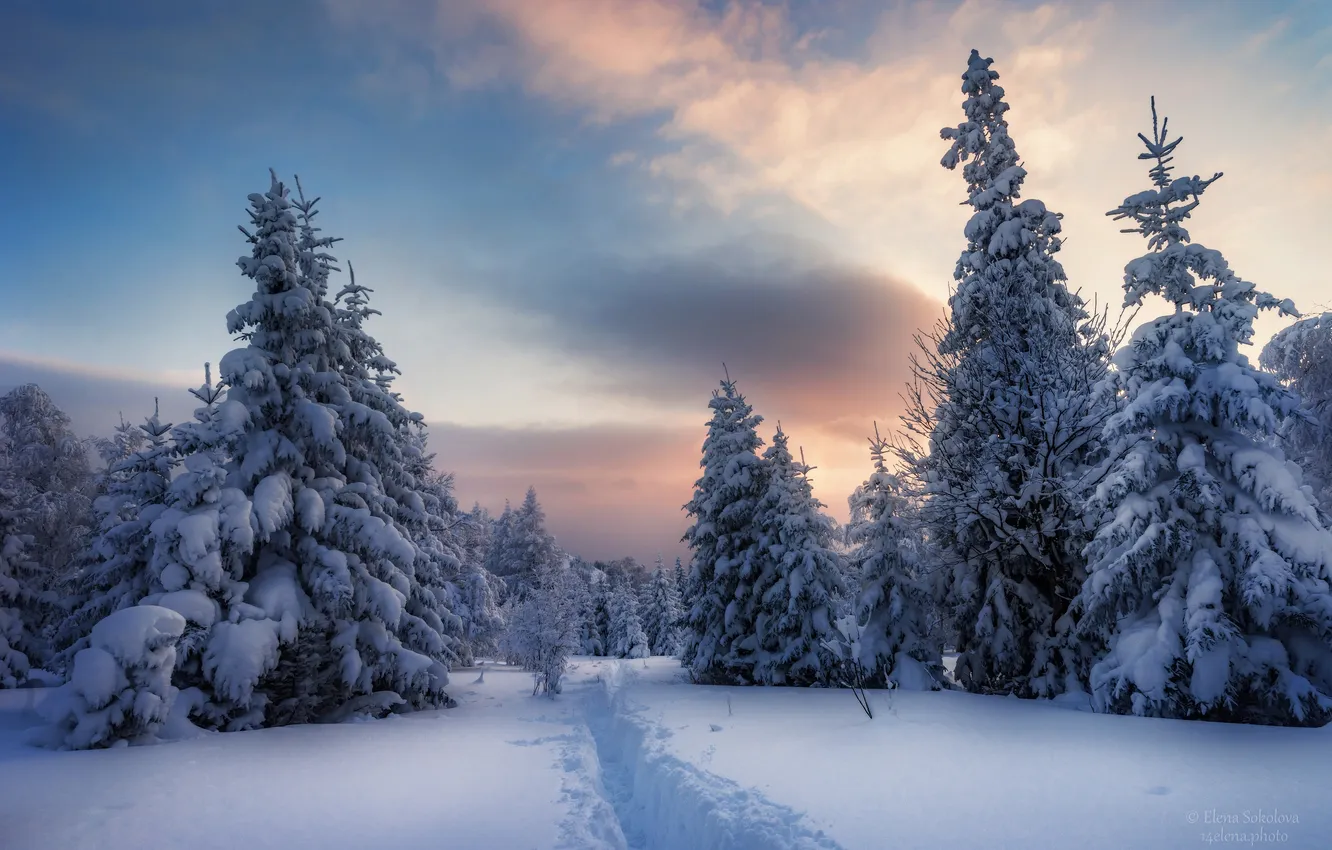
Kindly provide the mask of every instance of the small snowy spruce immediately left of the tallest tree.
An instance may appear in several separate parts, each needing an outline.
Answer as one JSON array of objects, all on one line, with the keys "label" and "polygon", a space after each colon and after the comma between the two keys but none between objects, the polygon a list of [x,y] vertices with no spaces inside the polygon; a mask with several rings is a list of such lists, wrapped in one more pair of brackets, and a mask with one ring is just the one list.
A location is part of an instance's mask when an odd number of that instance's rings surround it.
[{"label": "small snowy spruce immediately left of the tallest tree", "polygon": [[846,540],[851,572],[860,581],[859,661],[878,686],[935,690],[943,682],[943,646],[931,622],[932,586],[919,561],[906,486],[887,466],[891,450],[875,428],[870,438],[874,472],[848,500]]}]

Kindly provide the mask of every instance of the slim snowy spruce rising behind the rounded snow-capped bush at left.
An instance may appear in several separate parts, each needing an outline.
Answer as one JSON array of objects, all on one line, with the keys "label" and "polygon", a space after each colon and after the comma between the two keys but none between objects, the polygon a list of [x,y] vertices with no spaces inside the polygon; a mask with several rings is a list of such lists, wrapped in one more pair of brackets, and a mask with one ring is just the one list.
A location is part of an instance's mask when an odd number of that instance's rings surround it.
[{"label": "slim snowy spruce rising behind the rounded snow-capped bush at left", "polygon": [[[75,654],[88,646],[93,625],[123,608],[137,604],[149,593],[152,525],[166,509],[166,492],[176,465],[170,444],[170,422],[153,414],[135,426],[137,436],[120,432],[116,454],[104,476],[104,493],[93,510],[97,530],[80,554],[75,605],[56,632],[59,650],[53,666],[64,669]],[[119,430],[119,429],[117,429]],[[113,456],[115,457],[115,456]]]}]

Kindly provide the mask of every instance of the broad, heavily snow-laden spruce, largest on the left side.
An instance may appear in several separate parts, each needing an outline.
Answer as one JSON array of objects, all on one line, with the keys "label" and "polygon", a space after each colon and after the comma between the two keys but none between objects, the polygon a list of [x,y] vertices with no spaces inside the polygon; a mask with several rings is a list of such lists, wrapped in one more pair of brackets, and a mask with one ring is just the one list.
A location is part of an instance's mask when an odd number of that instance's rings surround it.
[{"label": "broad, heavily snow-laden spruce, largest on the left side", "polygon": [[205,386],[198,421],[176,429],[184,472],[153,524],[164,594],[149,601],[201,630],[177,682],[225,729],[445,703],[449,641],[412,610],[420,549],[389,494],[410,480],[414,418],[326,300],[286,187],[274,176],[250,205],[238,265],[256,290],[228,316],[248,345],[222,358],[225,401]]}]

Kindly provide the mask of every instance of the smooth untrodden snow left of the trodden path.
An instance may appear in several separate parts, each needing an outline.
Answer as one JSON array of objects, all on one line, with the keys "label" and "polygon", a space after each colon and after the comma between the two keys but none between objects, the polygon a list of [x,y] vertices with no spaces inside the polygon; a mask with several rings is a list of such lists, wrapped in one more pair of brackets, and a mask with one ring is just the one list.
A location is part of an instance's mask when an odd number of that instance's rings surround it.
[{"label": "smooth untrodden snow left of the trodden path", "polygon": [[518,670],[452,678],[457,709],[80,753],[25,746],[41,691],[0,691],[0,849],[557,846],[581,714]]}]

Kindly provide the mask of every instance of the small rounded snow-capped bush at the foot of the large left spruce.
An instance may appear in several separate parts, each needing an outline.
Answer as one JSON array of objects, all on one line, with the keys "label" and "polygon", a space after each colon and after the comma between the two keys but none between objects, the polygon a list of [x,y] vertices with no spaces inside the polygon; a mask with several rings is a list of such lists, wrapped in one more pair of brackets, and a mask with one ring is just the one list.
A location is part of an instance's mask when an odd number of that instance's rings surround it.
[{"label": "small rounded snow-capped bush at the foot of the large left spruce", "polygon": [[185,618],[157,605],[121,609],[92,629],[69,681],[43,705],[52,726],[40,741],[87,750],[152,739],[170,713],[176,641]]}]

